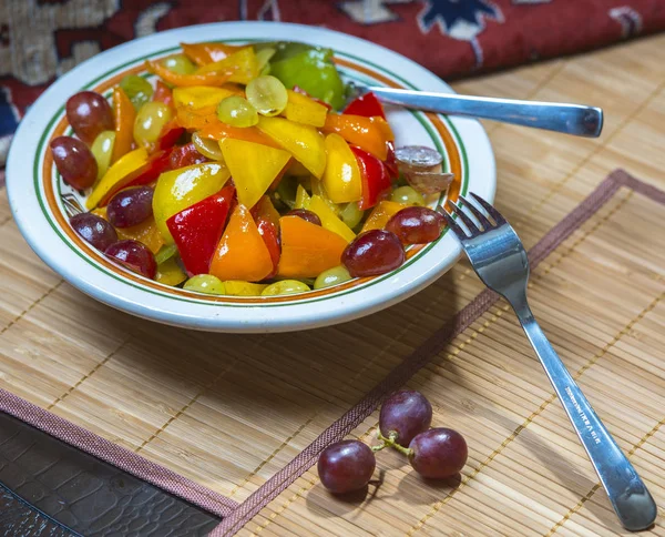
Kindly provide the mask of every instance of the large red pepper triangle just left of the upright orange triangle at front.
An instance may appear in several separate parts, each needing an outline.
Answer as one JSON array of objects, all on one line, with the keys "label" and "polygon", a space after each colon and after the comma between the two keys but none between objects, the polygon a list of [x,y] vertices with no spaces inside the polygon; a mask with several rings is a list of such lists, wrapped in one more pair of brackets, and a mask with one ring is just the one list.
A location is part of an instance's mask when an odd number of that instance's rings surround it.
[{"label": "large red pepper triangle just left of the upright orange triangle at front", "polygon": [[208,273],[234,195],[233,185],[224,186],[166,221],[190,276]]}]

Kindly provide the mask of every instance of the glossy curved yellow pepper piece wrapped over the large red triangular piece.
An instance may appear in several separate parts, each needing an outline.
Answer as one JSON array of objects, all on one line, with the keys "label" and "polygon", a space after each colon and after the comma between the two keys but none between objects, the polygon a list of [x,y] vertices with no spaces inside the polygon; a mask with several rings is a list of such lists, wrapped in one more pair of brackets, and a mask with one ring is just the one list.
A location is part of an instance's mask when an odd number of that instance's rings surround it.
[{"label": "glossy curved yellow pepper piece wrapped over the large red triangular piece", "polygon": [[153,194],[153,214],[165,244],[173,244],[166,221],[182,210],[219,192],[228,178],[231,172],[221,162],[204,162],[160,175]]}]

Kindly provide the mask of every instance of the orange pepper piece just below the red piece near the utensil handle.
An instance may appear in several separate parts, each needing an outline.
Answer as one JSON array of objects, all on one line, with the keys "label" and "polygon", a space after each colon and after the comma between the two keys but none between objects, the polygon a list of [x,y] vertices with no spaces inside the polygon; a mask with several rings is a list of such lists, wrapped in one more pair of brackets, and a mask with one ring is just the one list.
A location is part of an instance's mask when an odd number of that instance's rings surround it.
[{"label": "orange pepper piece just below the red piece near the utensil handle", "polygon": [[358,145],[382,161],[388,156],[388,142],[395,138],[390,125],[378,116],[328,114],[323,131],[336,132],[351,145]]}]

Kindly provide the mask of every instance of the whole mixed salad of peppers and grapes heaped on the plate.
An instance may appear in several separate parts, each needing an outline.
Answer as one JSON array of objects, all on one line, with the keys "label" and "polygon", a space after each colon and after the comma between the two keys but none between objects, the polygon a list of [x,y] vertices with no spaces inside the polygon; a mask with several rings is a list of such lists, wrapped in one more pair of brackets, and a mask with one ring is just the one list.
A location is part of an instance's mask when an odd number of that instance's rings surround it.
[{"label": "whole mixed salad of peppers and grapes heaped on the plate", "polygon": [[[437,240],[442,156],[395,148],[371,92],[350,98],[328,49],[181,43],[110,100],[65,105],[50,143],[85,195],[74,231],[111,261],[186,290],[274,296],[399,267]],[[152,82],[151,82],[152,80]]]}]

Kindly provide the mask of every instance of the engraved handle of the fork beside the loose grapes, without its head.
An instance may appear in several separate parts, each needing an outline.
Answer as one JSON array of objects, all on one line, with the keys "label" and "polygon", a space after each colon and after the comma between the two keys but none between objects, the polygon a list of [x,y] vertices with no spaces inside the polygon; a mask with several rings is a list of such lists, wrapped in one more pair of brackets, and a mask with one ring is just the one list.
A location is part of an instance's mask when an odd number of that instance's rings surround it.
[{"label": "engraved handle of the fork beside the loose grapes, without its head", "polygon": [[531,313],[526,297],[518,300],[516,303],[511,301],[511,305],[586,449],[621,523],[631,531],[648,528],[657,515],[656,504],[648,489],[552,348]]}]

